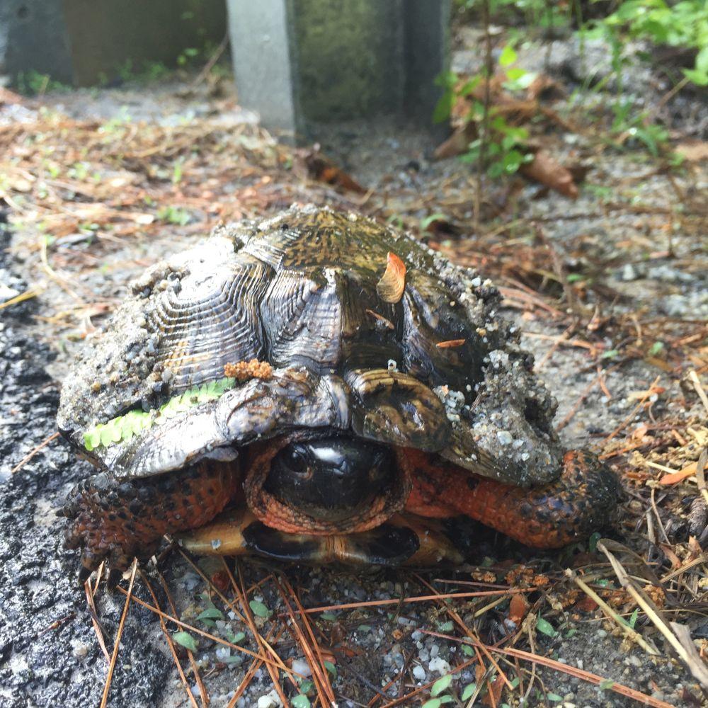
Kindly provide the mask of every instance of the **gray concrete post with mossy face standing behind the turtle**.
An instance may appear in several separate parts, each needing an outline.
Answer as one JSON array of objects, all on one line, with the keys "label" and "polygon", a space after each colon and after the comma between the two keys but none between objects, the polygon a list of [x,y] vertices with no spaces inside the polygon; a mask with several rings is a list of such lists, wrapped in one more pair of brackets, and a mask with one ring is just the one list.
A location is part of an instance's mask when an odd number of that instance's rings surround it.
[{"label": "gray concrete post with mossy face standing behind the turtle", "polygon": [[239,103],[265,127],[399,115],[419,125],[447,67],[450,0],[227,0]]}]

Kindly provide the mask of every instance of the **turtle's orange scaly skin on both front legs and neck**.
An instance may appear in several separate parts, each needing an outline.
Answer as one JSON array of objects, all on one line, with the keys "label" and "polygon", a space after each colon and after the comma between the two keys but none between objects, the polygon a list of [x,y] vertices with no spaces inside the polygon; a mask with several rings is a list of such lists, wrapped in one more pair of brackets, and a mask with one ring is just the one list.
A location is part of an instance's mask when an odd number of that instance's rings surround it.
[{"label": "turtle's orange scaly skin on both front legs and neck", "polygon": [[266,526],[310,536],[365,532],[401,509],[424,518],[465,515],[527,546],[548,549],[563,547],[605,525],[618,492],[615,475],[583,450],[566,453],[559,479],[524,489],[472,474],[437,455],[398,448],[396,458],[406,480],[406,494],[400,501],[382,497],[345,526],[327,527],[272,496],[257,493],[253,480],[264,476],[268,462],[285,442],[262,445],[249,458],[245,489],[235,462],[202,463],[178,475],[122,484],[108,476],[86,479],[64,508],[64,515],[74,522],[67,545],[85,549],[82,576],[103,559],[113,569],[125,569],[133,556],[154,553],[164,534],[205,525],[229,503],[243,506],[248,501]]}]

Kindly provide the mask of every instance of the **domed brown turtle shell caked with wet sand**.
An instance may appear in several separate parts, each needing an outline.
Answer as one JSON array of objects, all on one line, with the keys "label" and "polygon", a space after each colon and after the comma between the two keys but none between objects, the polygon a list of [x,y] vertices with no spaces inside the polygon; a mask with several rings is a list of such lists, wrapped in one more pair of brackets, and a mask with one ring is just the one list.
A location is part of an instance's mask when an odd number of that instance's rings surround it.
[{"label": "domed brown turtle shell caked with wet sand", "polygon": [[[132,282],[64,383],[59,429],[119,478],[297,428],[540,484],[561,467],[555,401],[499,302],[474,270],[355,214],[219,227]],[[267,375],[227,377],[239,362]]]}]

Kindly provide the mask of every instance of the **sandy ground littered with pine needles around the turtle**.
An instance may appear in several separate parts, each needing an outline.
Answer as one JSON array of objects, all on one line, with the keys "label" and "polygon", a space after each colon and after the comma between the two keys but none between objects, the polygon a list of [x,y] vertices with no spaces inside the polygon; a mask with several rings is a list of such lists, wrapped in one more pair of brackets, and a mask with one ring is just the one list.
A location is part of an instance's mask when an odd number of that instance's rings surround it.
[{"label": "sandy ground littered with pine needles around the turtle", "polygon": [[[476,60],[474,38],[459,42],[462,70]],[[572,82],[561,59],[546,70]],[[653,85],[656,96],[662,90]],[[692,113],[695,105],[706,110],[699,98],[680,98],[674,144],[700,139],[695,115],[705,114]],[[0,205],[9,221],[0,244],[0,706],[98,705],[119,635],[111,706],[201,705],[206,695],[217,708],[278,706],[270,665],[243,651],[263,653],[264,639],[297,673],[311,673],[314,646],[324,678],[309,680],[331,683],[339,706],[423,704],[451,671],[440,695],[457,705],[472,704],[470,695],[489,706],[704,704],[700,676],[661,627],[690,629],[684,652],[696,670],[708,651],[706,510],[696,474],[708,442],[700,395],[708,389],[708,170],[687,161],[672,171],[631,144],[608,148],[602,127],[583,115],[573,115],[585,126],[576,132],[538,129],[555,159],[587,166],[578,198],[523,178],[488,182],[475,227],[469,165],[431,159],[435,138],[404,125],[322,133],[322,151],[362,185],[357,191],[317,180],[308,150],[261,130],[222,79],[0,105]],[[544,554],[475,528],[469,565],[421,573],[244,562],[235,579],[255,605],[231,599],[238,593],[217,561],[172,550],[142,569],[133,593],[219,640],[192,631],[195,651],[172,645],[182,679],[153,610],[130,603],[120,629],[125,596],[76,584],[56,510],[90,470],[53,437],[76,348],[147,265],[218,222],[292,202],[409,229],[496,281],[501,314],[523,329],[559,401],[564,442],[594,447],[622,477],[622,511],[606,547],[656,612],[639,603],[635,613],[639,601],[594,541]],[[439,216],[428,224],[431,215]],[[683,474],[666,484],[671,472]],[[624,624],[607,619],[573,575]],[[510,588],[527,601],[510,603]],[[312,613],[311,640],[292,629],[294,598],[326,608]],[[239,619],[249,607],[256,631]],[[166,632],[176,631],[167,622]],[[460,644],[466,636],[478,644]],[[280,679],[290,699],[307,693],[315,704],[324,690],[296,690],[282,668]],[[472,683],[479,692],[463,701]]]}]

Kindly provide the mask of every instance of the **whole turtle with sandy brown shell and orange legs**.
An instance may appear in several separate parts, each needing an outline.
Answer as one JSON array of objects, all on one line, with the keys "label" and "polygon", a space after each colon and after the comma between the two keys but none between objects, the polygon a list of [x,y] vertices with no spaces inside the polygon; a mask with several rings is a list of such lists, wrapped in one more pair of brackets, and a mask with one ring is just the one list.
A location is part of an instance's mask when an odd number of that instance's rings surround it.
[{"label": "whole turtle with sandy brown shell and orange legs", "polygon": [[557,548],[612,523],[619,485],[564,450],[556,401],[475,270],[355,213],[220,225],[130,284],[64,380],[85,579],[164,535],[204,554],[429,566],[474,520]]}]

